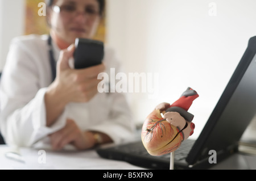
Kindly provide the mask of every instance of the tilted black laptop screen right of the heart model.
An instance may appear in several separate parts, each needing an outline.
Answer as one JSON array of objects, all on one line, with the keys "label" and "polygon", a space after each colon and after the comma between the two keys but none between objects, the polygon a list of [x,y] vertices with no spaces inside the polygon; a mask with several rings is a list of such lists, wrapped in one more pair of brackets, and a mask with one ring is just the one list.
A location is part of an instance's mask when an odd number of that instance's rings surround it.
[{"label": "tilted black laptop screen right of the heart model", "polygon": [[256,36],[248,47],[221,95],[207,124],[197,138],[186,161],[194,164],[217,154],[236,151],[247,125],[256,114]]}]

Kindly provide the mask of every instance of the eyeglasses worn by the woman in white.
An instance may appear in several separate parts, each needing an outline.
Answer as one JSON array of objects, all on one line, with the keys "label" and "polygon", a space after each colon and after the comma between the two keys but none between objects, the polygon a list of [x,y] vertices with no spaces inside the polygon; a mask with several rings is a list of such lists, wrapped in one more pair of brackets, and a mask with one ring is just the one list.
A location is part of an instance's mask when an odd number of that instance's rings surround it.
[{"label": "eyeglasses worn by the woman in white", "polygon": [[[79,15],[80,13],[79,10],[77,10],[77,7],[75,5],[62,5],[62,6],[53,5],[52,10],[56,13],[62,14],[63,16],[72,17],[72,18]],[[98,15],[100,15],[100,13],[94,7],[90,7],[90,6],[86,6],[83,13],[91,19],[94,19]]]}]

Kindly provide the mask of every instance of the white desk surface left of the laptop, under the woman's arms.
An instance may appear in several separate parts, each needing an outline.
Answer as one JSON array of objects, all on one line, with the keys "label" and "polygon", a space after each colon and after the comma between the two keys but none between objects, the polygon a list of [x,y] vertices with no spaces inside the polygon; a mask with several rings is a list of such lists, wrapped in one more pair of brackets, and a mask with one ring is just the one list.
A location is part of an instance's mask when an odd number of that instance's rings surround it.
[{"label": "white desk surface left of the laptop, under the woman's arms", "polygon": [[[5,153],[14,151],[23,155],[24,162],[6,158]],[[57,170],[138,170],[141,167],[126,162],[112,161],[98,156],[95,150],[88,151],[39,151],[28,148],[10,148],[0,145],[0,170],[3,169],[57,169]]]}]

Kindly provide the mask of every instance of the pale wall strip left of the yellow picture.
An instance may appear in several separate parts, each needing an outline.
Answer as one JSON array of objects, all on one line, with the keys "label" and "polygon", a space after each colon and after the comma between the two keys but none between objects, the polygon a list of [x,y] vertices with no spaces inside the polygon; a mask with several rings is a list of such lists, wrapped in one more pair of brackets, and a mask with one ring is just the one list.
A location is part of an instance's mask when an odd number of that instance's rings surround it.
[{"label": "pale wall strip left of the yellow picture", "polygon": [[0,0],[0,71],[5,65],[11,39],[24,33],[24,0]]}]

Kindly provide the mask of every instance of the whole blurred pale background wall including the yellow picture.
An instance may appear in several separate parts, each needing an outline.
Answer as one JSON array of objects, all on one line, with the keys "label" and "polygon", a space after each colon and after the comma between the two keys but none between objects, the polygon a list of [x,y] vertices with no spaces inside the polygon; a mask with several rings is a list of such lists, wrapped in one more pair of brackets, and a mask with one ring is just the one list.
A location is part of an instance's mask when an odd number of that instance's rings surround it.
[{"label": "whole blurred pale background wall including the yellow picture", "polygon": [[[39,2],[0,0],[0,70],[13,37],[48,33]],[[143,123],[157,104],[173,103],[192,87],[200,95],[189,109],[192,137],[199,136],[256,35],[255,8],[255,0],[106,0],[95,39],[115,49],[125,73],[159,75],[155,98],[127,93],[135,121]],[[255,126],[250,129],[255,138]]]}]

